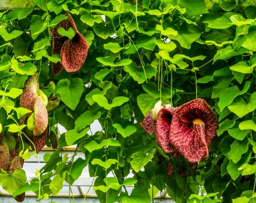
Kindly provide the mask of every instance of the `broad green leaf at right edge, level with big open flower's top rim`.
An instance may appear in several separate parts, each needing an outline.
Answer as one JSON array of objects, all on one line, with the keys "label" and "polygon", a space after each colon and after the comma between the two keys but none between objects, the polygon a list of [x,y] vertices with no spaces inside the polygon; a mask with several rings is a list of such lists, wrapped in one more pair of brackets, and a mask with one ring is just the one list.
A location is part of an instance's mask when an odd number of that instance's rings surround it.
[{"label": "broad green leaf at right edge, level with big open flower's top rim", "polygon": [[256,109],[256,92],[253,92],[250,96],[248,103],[245,103],[244,99],[238,97],[235,98],[234,102],[228,108],[240,118],[254,111]]}]

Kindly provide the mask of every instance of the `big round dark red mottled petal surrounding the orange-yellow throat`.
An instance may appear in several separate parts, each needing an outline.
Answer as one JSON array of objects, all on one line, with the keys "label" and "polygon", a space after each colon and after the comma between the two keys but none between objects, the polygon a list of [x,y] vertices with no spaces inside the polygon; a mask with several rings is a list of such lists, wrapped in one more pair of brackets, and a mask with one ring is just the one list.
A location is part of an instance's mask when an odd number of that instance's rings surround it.
[{"label": "big round dark red mottled petal surrounding the orange-yellow throat", "polygon": [[[196,119],[204,124],[193,123]],[[203,99],[195,99],[175,110],[169,141],[189,162],[200,162],[208,156],[217,127],[218,121],[210,106]]]}]

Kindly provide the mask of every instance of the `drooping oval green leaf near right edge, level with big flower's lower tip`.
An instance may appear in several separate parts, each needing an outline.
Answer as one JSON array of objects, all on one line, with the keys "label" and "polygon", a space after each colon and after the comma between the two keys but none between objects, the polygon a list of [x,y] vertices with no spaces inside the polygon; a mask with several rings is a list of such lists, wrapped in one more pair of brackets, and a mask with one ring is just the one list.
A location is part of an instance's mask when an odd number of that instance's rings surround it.
[{"label": "drooping oval green leaf near right edge, level with big flower's lower tip", "polygon": [[235,140],[230,145],[229,158],[236,164],[244,153],[248,150],[249,140]]}]

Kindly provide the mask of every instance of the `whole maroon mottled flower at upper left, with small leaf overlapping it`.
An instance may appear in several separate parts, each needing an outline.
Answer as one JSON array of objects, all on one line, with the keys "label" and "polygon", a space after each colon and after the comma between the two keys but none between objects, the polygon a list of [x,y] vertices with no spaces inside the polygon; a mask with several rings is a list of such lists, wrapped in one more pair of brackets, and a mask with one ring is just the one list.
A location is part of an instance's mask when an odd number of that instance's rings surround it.
[{"label": "whole maroon mottled flower at upper left, with small leaf overlapping it", "polygon": [[[84,36],[78,32],[76,24],[69,14],[68,19],[62,20],[51,30],[52,39],[52,54],[60,54],[61,63],[53,63],[52,71],[54,75],[58,75],[63,67],[67,72],[78,71],[85,62],[88,46]],[[73,39],[62,37],[58,33],[58,28],[74,28],[76,35]]]}]

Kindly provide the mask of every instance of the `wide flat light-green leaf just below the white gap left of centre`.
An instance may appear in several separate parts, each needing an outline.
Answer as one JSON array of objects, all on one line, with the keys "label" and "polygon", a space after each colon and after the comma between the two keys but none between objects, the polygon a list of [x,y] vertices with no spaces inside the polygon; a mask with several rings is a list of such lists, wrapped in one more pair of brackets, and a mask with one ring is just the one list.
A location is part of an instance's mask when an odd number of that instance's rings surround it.
[{"label": "wide flat light-green leaf just below the white gap left of centre", "polygon": [[102,140],[99,144],[95,142],[94,140],[91,140],[90,142],[86,143],[84,147],[92,153],[92,151],[101,149],[104,146],[116,146],[119,147],[121,144],[118,140],[114,140],[113,138],[108,138],[107,140]]}]

